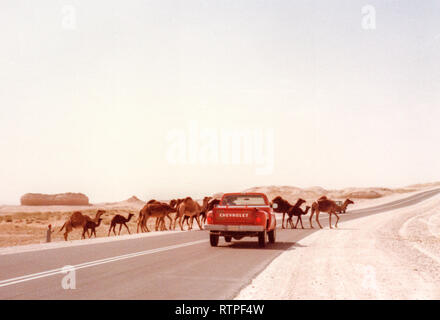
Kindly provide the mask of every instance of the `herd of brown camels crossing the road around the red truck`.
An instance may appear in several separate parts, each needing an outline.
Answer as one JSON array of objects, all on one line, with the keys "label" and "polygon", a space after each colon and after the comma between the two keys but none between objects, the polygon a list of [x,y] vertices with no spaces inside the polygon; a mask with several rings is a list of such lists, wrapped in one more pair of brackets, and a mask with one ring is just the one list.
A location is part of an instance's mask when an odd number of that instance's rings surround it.
[{"label": "herd of brown camels crossing the road around the red truck", "polygon": [[[281,227],[284,229],[284,219],[287,214],[288,218],[286,220],[286,227],[290,225],[292,229],[296,229],[298,223],[301,223],[301,228],[304,229],[301,216],[306,215],[308,211],[311,209],[311,215],[309,218],[310,227],[313,228],[312,218],[313,215],[316,217],[316,222],[319,227],[322,229],[321,224],[319,223],[319,213],[327,212],[329,214],[329,226],[332,228],[331,218],[332,215],[336,216],[336,224],[335,227],[338,227],[339,216],[338,213],[345,212],[347,206],[349,204],[353,204],[354,202],[350,199],[346,199],[342,205],[338,205],[335,201],[328,199],[326,196],[322,196],[315,202],[313,202],[312,206],[306,206],[306,209],[301,209],[301,205],[306,201],[304,199],[299,198],[294,205],[291,205],[287,200],[283,199],[281,196],[275,197],[271,205],[277,204],[273,206],[273,210],[277,213],[283,214],[283,220]],[[169,203],[160,202],[157,200],[150,200],[145,204],[145,206],[139,211],[139,216],[137,219],[137,230],[136,232],[150,232],[148,229],[148,220],[150,218],[156,218],[155,229],[156,231],[168,230],[166,227],[166,219],[169,221],[169,230],[175,230],[176,224],[178,223],[180,229],[183,231],[184,224],[188,225],[188,230],[192,229],[194,220],[196,220],[199,229],[202,230],[202,225],[206,222],[206,214],[211,211],[214,206],[218,205],[220,200],[212,199],[212,197],[203,198],[202,204],[199,204],[196,200],[193,200],[191,197],[186,197],[183,199],[173,199]],[[64,232],[64,240],[67,241],[67,237],[69,233],[75,228],[82,228],[83,233],[81,238],[85,239],[85,234],[92,237],[95,235],[96,237],[96,228],[100,226],[102,218],[101,216],[105,214],[104,210],[98,210],[95,217],[91,218],[88,215],[84,215],[79,211],[74,212],[69,219],[63,224],[59,232],[65,229]],[[170,214],[175,213],[174,218],[170,216]],[[122,215],[115,215],[111,222],[110,228],[108,230],[108,236],[110,236],[111,231],[113,230],[114,235],[116,235],[116,226],[119,225],[119,234],[121,234],[122,226],[125,226],[128,233],[130,233],[130,229],[127,226],[127,223],[134,216],[133,213],[129,213],[128,217],[125,218]],[[296,223],[293,224],[293,217],[296,217]],[[90,232],[90,233],[89,233]]]}]

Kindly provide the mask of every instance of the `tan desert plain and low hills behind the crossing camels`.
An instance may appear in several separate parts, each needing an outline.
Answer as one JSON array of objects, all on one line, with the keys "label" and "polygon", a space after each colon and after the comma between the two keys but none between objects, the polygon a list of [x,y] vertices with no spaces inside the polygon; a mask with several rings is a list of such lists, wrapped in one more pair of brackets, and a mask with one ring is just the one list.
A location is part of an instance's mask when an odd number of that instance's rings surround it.
[{"label": "tan desert plain and low hills behind the crossing camels", "polygon": [[[292,203],[298,198],[303,198],[306,200],[304,206],[311,205],[313,201],[321,196],[327,196],[333,200],[345,200],[346,198],[350,198],[355,202],[354,205],[350,206],[350,209],[361,209],[371,205],[393,201],[394,199],[402,197],[402,195],[410,195],[439,185],[440,182],[434,182],[395,189],[345,188],[340,190],[327,190],[322,187],[299,188],[293,186],[261,186],[243,191],[263,192],[267,194],[269,199],[281,196]],[[78,198],[78,194],[71,195],[74,195],[75,199]],[[216,193],[212,195],[212,198],[219,199],[221,196],[222,193]],[[84,199],[83,196],[80,198]],[[33,199],[35,199],[35,195],[33,196]],[[148,200],[149,199],[146,199],[146,201]],[[110,222],[115,215],[119,214],[128,217],[129,214],[133,214],[132,219],[127,223],[130,232],[133,234],[136,233],[139,211],[146,204],[146,201],[141,200],[136,196],[132,196],[124,201],[87,205],[3,205],[0,206],[0,247],[44,243],[46,242],[46,231],[49,224],[52,225],[52,228],[55,231],[52,234],[52,241],[64,241],[63,233],[59,232],[59,230],[64,222],[75,211],[80,211],[81,213],[92,217],[98,210],[105,210],[105,214],[102,216],[101,225],[96,228],[96,236],[98,238],[107,237]],[[163,201],[169,202],[169,200]],[[201,200],[199,200],[199,203],[201,203]],[[174,213],[171,214],[171,217],[174,218],[174,215]],[[153,231],[155,223],[155,219],[150,219],[148,221],[148,228]],[[198,229],[195,222],[194,226]],[[308,223],[306,223],[305,226],[308,227]],[[179,227],[177,227],[176,230],[180,230]],[[116,231],[118,232],[118,227]],[[74,229],[69,234],[69,240],[81,239],[81,233],[82,230]],[[125,227],[123,227],[121,235],[126,234],[128,234],[128,232]]]}]

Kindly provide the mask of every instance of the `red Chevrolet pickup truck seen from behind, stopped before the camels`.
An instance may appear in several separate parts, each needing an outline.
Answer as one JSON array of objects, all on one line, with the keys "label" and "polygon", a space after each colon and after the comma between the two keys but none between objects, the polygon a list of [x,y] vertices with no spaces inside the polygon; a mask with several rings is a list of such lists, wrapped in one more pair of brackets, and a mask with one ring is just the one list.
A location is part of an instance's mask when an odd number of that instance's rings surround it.
[{"label": "red Chevrolet pickup truck seen from behind, stopped before the camels", "polygon": [[226,242],[258,237],[260,247],[265,247],[267,240],[275,242],[275,214],[264,193],[225,193],[220,204],[207,214],[206,222],[205,230],[210,231],[213,247],[218,245],[220,236]]}]

